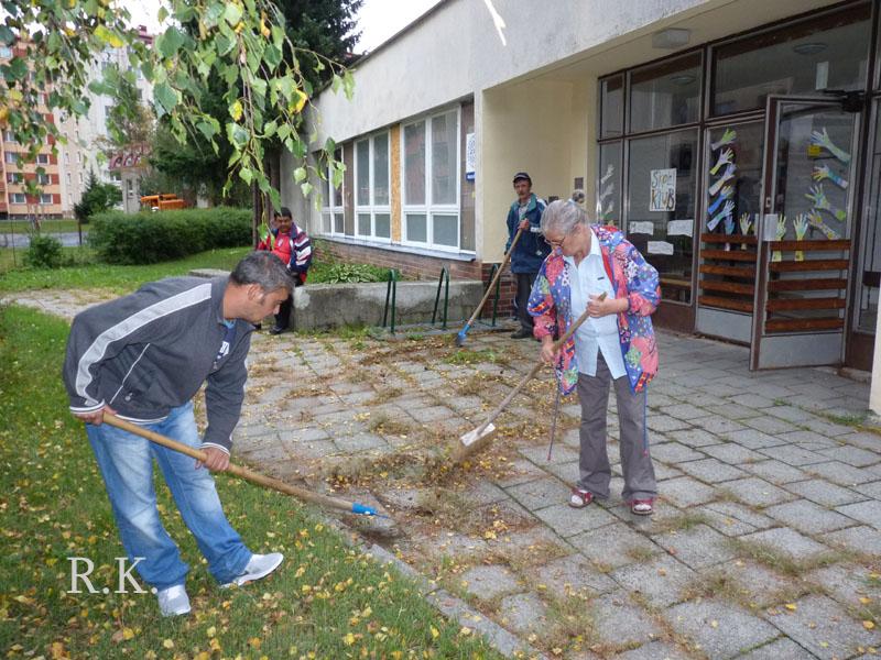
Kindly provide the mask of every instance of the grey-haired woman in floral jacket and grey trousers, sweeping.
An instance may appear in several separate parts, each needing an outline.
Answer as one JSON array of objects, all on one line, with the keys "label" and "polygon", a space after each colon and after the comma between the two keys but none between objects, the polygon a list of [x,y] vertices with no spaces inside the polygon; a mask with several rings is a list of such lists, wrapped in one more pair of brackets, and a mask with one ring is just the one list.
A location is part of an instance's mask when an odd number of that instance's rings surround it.
[{"label": "grey-haired woman in floral jacket and grey trousers, sweeping", "polygon": [[[542,360],[556,365],[561,392],[577,387],[581,402],[580,479],[569,506],[581,508],[595,497],[609,496],[606,410],[613,383],[622,497],[632,513],[651,515],[657,487],[649,455],[645,386],[657,372],[651,320],[661,297],[657,271],[616,228],[588,224],[572,200],[548,205],[542,232],[554,250],[535,279],[529,311],[536,317]],[[588,320],[555,352],[554,336],[562,336],[586,309]]]}]

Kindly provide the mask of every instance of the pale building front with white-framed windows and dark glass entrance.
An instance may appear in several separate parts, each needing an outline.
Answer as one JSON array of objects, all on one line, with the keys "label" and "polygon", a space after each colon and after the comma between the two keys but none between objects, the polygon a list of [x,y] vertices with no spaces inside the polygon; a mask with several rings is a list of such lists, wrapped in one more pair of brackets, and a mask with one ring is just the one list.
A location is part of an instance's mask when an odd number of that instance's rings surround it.
[{"label": "pale building front with white-framed windows and dark glass entrance", "polygon": [[477,276],[525,169],[547,199],[584,187],[657,267],[660,326],[749,345],[753,369],[878,375],[880,14],[446,0],[357,64],[351,102],[317,99],[341,188],[284,198],[335,251]]}]

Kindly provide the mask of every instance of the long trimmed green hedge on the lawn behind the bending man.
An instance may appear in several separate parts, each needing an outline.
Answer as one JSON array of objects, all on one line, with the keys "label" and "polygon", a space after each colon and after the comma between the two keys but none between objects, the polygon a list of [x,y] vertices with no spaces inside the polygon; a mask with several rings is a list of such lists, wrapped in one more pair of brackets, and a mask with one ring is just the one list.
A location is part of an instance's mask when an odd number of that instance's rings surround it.
[{"label": "long trimmed green hedge on the lawn behind the bending man", "polygon": [[248,209],[108,212],[93,216],[89,243],[109,264],[154,264],[217,248],[251,243]]}]

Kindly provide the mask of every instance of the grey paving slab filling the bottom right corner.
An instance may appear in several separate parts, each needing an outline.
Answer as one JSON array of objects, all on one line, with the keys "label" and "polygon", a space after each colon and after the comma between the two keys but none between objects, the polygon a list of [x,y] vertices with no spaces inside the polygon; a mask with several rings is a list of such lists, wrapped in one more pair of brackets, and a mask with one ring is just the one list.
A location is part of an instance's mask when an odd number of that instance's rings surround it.
[{"label": "grey paving slab filling the bottom right corner", "polygon": [[850,658],[860,647],[881,644],[877,629],[863,628],[831,598],[812,595],[796,601],[795,605],[795,612],[783,609],[766,619],[818,658]]}]

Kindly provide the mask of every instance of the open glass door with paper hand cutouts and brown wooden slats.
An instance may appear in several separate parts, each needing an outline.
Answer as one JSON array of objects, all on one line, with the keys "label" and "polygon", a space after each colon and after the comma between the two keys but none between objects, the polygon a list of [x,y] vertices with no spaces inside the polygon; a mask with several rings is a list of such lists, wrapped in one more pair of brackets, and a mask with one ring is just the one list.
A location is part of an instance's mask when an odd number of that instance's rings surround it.
[{"label": "open glass door with paper hand cutouts and brown wooden slats", "polygon": [[859,114],[769,97],[751,369],[842,360]]}]

